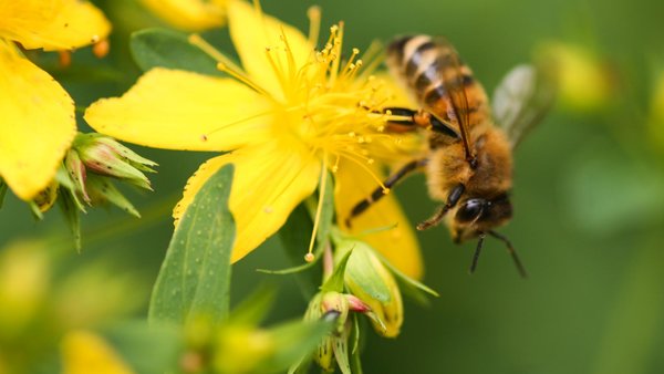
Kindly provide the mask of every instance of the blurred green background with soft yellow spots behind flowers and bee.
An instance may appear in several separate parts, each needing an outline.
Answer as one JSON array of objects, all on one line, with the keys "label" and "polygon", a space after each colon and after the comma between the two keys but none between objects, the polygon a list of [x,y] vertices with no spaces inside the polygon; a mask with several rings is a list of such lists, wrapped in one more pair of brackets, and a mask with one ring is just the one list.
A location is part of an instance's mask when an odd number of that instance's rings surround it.
[{"label": "blurred green background with soft yellow spots behind flowers and bee", "polygon": [[[139,74],[128,35],[159,24],[133,0],[95,2],[114,23],[108,56],[96,60],[89,50],[77,51],[69,69],[59,66],[56,56],[34,56],[81,110],[126,91]],[[314,3],[262,1],[267,12],[302,30]],[[323,25],[345,22],[347,49],[404,33],[447,37],[489,93],[511,66],[542,53],[560,56],[568,76],[553,111],[516,153],[516,215],[501,230],[531,278],[518,277],[497,241],[487,241],[477,273],[469,276],[473,243],[453,245],[443,227],[419,233],[425,282],[440,297],[429,305],[406,301],[398,339],[369,333],[365,372],[663,373],[664,2],[318,4]],[[206,38],[231,50],[225,30]],[[80,127],[86,128],[82,120]],[[32,362],[31,371],[52,372],[49,363],[68,329],[146,314],[173,230],[170,208],[209,155],[134,148],[160,165],[152,177],[154,194],[127,191],[143,219],[113,208],[91,211],[83,217],[80,253],[56,209],[35,221],[25,205],[6,197],[0,346]],[[418,175],[396,189],[415,222],[435,207],[424,183]],[[299,318],[305,300],[293,279],[256,271],[287,266],[279,240],[268,240],[234,268],[232,299],[276,283],[270,321]],[[29,294],[28,301],[12,304],[7,284]]]}]

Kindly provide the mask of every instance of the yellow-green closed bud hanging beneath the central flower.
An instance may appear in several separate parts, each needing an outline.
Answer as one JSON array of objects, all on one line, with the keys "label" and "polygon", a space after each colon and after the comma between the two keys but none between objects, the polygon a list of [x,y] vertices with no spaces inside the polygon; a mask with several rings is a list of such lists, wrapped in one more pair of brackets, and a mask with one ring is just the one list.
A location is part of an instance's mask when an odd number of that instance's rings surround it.
[{"label": "yellow-green closed bud hanging beneath the central flower", "polygon": [[371,309],[367,315],[376,332],[386,337],[398,335],[404,320],[401,291],[396,280],[374,250],[363,241],[342,240],[336,256],[353,250],[344,282],[353,295]]}]

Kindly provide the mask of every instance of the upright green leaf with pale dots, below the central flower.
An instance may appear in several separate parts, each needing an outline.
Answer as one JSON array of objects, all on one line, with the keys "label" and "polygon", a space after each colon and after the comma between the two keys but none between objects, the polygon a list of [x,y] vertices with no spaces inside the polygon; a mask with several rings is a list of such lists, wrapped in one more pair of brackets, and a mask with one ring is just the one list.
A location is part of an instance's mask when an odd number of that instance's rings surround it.
[{"label": "upright green leaf with pale dots, below the central flower", "polygon": [[234,166],[212,175],[180,219],[149,304],[151,322],[218,323],[228,315],[235,222],[228,210]]}]

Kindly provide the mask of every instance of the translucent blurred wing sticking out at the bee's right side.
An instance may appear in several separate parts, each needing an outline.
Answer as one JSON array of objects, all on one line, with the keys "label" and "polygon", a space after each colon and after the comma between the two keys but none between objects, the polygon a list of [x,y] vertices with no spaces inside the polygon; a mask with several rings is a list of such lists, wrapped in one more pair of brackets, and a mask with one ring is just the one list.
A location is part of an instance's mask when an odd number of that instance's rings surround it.
[{"label": "translucent blurred wing sticking out at the bee's right side", "polygon": [[494,118],[515,148],[556,100],[556,83],[543,66],[518,65],[494,93]]}]

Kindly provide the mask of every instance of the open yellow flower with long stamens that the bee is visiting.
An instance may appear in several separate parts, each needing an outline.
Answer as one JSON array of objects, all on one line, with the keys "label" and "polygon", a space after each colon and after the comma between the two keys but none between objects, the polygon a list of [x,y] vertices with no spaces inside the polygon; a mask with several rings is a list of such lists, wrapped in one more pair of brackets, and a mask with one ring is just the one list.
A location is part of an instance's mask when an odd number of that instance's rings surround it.
[{"label": "open yellow flower with long stamens that the bee is visiting", "polygon": [[[398,159],[396,153],[409,145],[382,132],[386,116],[378,113],[395,104],[393,85],[372,76],[372,69],[361,69],[357,50],[342,62],[342,25],[331,28],[328,43],[317,52],[319,14],[313,11],[311,17],[307,38],[258,6],[230,1],[230,35],[243,69],[195,40],[232,77],[155,69],[124,96],[98,101],[85,113],[96,131],[123,141],[230,152],[200,166],[174,216],[177,220],[183,215],[210,175],[235,164],[229,201],[237,224],[234,261],[274,233],[325,183],[325,169],[336,173],[338,207],[345,208],[360,200],[356,186],[380,184],[380,162]],[[411,226],[391,196],[385,204],[382,216],[367,214],[357,229],[397,224],[401,241],[374,245],[404,272],[418,277],[422,267]],[[402,247],[393,248],[395,243]]]}]

